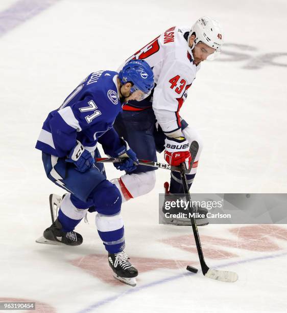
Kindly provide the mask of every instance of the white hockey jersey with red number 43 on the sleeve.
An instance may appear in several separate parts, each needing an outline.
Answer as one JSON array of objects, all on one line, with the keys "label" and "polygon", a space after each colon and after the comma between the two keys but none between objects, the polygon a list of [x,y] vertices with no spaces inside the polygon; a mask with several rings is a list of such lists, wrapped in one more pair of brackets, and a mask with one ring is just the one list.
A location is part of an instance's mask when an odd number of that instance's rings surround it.
[{"label": "white hockey jersey with red number 43 on the sleeve", "polygon": [[172,27],[127,59],[144,59],[153,69],[156,86],[151,101],[165,133],[181,127],[179,110],[200,68],[193,63],[187,44],[189,31],[187,27]]}]

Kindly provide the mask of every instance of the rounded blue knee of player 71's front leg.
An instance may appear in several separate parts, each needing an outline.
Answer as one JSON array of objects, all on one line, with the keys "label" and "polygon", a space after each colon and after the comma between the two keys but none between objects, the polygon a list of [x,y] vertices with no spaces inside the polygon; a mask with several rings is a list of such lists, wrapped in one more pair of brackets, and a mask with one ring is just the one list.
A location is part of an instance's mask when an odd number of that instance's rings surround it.
[{"label": "rounded blue knee of player 71's front leg", "polygon": [[100,214],[114,215],[121,211],[122,196],[111,182],[101,182],[91,193],[95,210]]}]

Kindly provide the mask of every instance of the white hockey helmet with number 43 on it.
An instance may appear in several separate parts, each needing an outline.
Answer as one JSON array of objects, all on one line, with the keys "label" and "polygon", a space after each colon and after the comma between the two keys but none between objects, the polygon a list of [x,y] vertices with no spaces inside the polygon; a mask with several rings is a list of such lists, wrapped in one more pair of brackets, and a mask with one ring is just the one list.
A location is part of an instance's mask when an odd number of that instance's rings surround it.
[{"label": "white hockey helmet with number 43 on it", "polygon": [[188,42],[190,36],[194,33],[196,36],[194,41],[195,44],[201,41],[207,44],[207,46],[216,49],[216,51],[214,51],[214,53],[212,53],[207,59],[214,59],[221,53],[223,34],[218,20],[209,16],[200,17],[189,32]]}]

